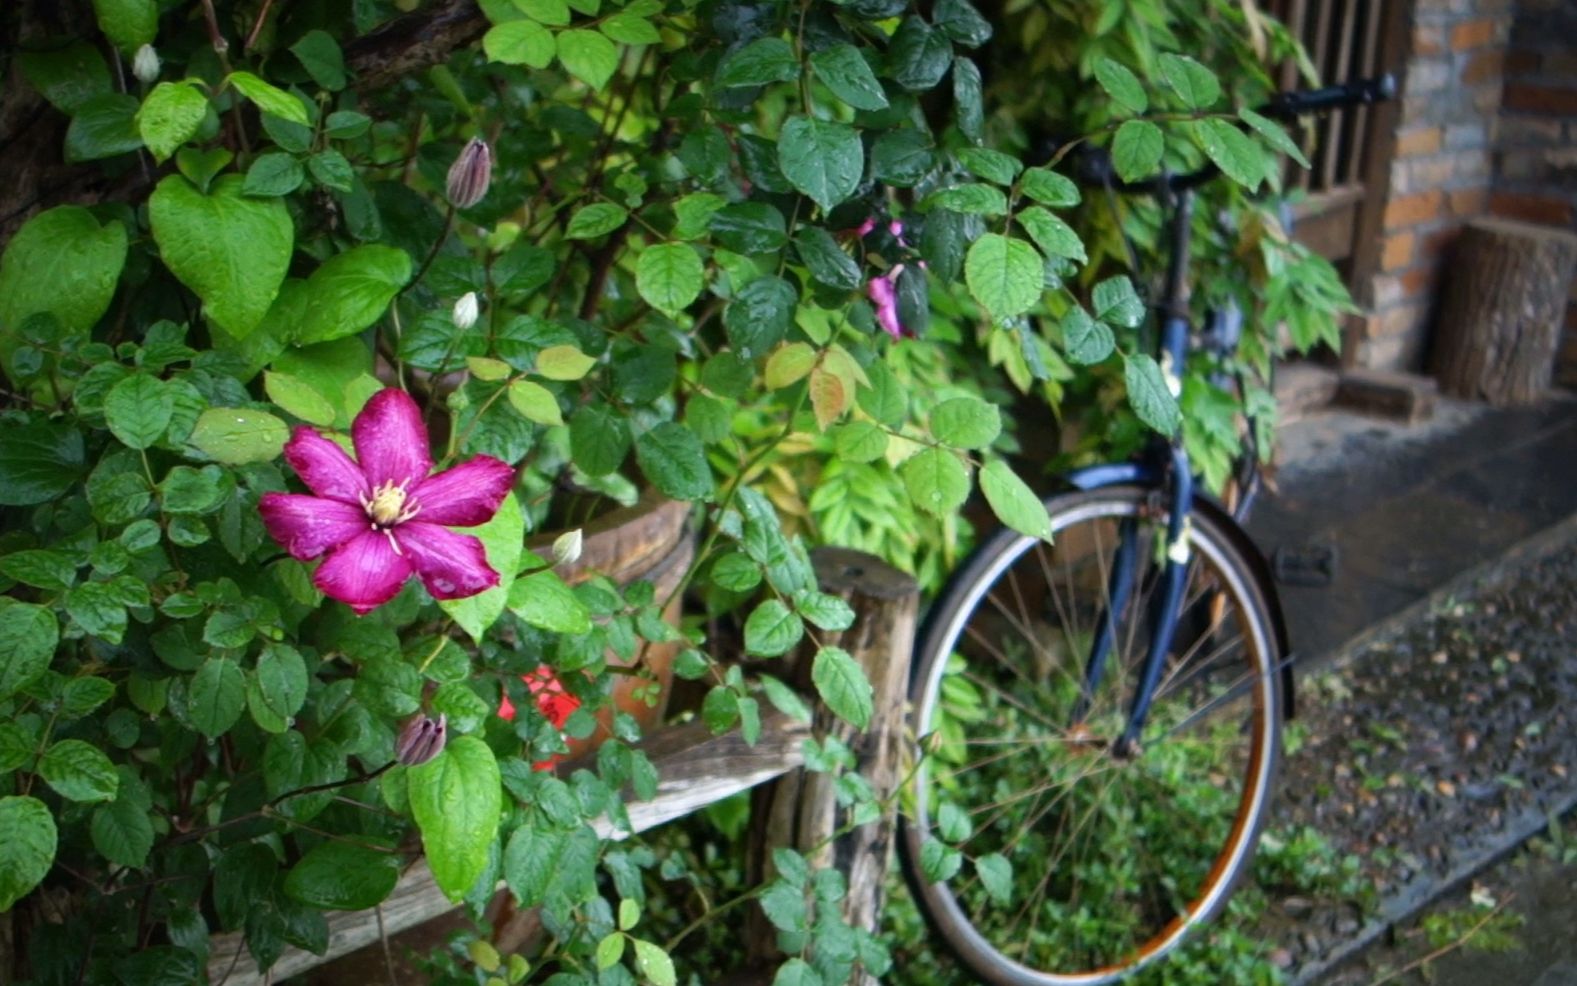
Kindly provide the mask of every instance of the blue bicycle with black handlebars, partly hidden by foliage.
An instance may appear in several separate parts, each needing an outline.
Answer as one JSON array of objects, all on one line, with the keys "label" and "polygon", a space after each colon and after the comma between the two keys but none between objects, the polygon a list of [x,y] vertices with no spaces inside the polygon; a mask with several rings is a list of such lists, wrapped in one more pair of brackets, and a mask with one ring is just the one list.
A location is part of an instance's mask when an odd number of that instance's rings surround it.
[{"label": "blue bicycle with black handlebars, partly hidden by foliage", "polygon": [[[1381,76],[1262,112],[1392,93]],[[1087,183],[1169,210],[1153,308],[1161,363],[1181,368],[1194,189],[1217,170],[1124,185],[1090,161]],[[930,607],[899,847],[921,912],[982,981],[1123,980],[1214,918],[1249,869],[1293,697],[1271,573],[1241,525],[1257,458],[1230,511],[1195,491],[1180,435],[1074,472],[1046,500],[1050,543],[998,530]]]}]

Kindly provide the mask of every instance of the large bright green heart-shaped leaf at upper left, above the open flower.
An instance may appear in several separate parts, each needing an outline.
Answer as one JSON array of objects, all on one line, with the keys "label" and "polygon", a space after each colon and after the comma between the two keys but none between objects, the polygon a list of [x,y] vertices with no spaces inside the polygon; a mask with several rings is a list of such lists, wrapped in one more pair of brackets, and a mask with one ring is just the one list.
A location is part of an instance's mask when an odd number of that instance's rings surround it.
[{"label": "large bright green heart-shaped leaf at upper left, above the open flower", "polygon": [[295,245],[284,202],[249,199],[241,194],[244,183],[241,175],[221,175],[203,196],[170,175],[148,197],[164,265],[202,298],[208,317],[238,339],[268,314]]}]

